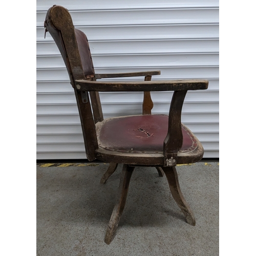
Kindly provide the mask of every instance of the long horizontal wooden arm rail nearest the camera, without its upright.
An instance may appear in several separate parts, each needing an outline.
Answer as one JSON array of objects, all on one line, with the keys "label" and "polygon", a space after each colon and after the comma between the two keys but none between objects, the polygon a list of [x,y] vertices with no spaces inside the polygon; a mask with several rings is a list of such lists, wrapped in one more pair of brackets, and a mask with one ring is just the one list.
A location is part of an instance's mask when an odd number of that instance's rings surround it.
[{"label": "long horizontal wooden arm rail nearest the camera, without its upright", "polygon": [[90,81],[75,80],[75,88],[80,91],[96,92],[160,92],[205,90],[207,80],[161,80],[161,81]]}]

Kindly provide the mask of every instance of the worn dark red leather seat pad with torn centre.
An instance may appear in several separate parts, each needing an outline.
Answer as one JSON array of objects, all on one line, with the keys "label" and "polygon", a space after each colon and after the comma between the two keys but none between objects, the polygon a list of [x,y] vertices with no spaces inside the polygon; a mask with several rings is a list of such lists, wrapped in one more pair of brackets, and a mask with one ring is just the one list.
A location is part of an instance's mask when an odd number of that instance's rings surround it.
[{"label": "worn dark red leather seat pad with torn centre", "polygon": [[[102,121],[99,146],[110,151],[127,153],[161,153],[167,135],[167,115],[137,115]],[[182,124],[183,144],[180,152],[193,151],[197,139]]]}]

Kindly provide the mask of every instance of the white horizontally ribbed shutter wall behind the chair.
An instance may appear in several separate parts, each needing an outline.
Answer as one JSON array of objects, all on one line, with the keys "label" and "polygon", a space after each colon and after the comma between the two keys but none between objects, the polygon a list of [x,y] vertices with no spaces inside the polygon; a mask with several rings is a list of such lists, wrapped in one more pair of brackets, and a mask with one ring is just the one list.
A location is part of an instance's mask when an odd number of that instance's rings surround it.
[{"label": "white horizontally ribbed shutter wall behind the chair", "polygon": [[[50,34],[44,39],[54,4],[87,34],[96,73],[161,70],[153,79],[208,79],[207,91],[187,93],[182,122],[201,140],[205,158],[219,157],[218,1],[38,0],[37,159],[86,158],[68,73]],[[142,93],[100,96],[104,118],[142,112]],[[152,93],[153,114],[167,114],[171,96]]]}]

